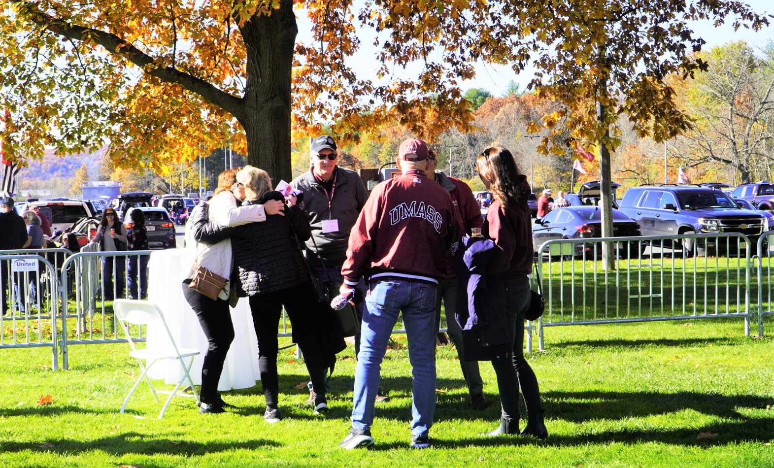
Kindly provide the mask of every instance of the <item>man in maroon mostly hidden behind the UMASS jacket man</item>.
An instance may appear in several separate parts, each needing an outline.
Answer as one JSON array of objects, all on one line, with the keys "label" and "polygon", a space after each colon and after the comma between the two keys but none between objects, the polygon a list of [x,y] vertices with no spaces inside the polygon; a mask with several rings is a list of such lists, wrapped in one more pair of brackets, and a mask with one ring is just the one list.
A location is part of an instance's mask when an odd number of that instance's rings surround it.
[{"label": "man in maroon mostly hidden behind the UMASS jacket man", "polygon": [[[451,196],[452,203],[454,203],[454,207],[457,209],[457,222],[461,234],[470,235],[471,228],[481,228],[484,224],[484,218],[481,217],[481,208],[478,207],[478,202],[475,196],[473,196],[471,187],[467,186],[467,183],[462,182],[460,179],[447,176],[437,170],[438,160],[432,151],[430,151],[430,166],[432,166],[435,181],[447,190]],[[453,246],[451,250],[456,251],[456,246]],[[447,330],[452,342],[454,342],[454,347],[457,348],[457,357],[460,359],[462,377],[465,379],[467,391],[471,398],[471,408],[481,411],[487,405],[486,398],[484,397],[484,381],[481,379],[481,372],[478,370],[478,361],[466,361],[463,359],[462,329],[457,320],[454,319],[457,304],[457,272],[454,271],[454,255],[451,253],[447,255],[446,276],[438,284],[439,300],[438,308],[436,309],[436,321],[440,322],[440,299],[443,299]]]}]

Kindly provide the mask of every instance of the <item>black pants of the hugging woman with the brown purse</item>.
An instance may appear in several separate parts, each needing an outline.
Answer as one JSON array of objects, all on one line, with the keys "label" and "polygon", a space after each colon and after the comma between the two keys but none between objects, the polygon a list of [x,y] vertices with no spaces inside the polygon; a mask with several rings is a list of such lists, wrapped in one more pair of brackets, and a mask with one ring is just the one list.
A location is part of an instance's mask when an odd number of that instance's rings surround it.
[{"label": "black pants of the hugging woman with the brown purse", "polygon": [[226,360],[228,348],[234,340],[234,324],[231,323],[231,311],[228,301],[218,298],[214,301],[206,295],[190,289],[183,283],[183,295],[191,309],[194,309],[197,319],[207,336],[207,354],[204,355],[204,365],[201,368],[201,401],[214,403],[217,401],[217,382],[221,380],[223,363]]}]

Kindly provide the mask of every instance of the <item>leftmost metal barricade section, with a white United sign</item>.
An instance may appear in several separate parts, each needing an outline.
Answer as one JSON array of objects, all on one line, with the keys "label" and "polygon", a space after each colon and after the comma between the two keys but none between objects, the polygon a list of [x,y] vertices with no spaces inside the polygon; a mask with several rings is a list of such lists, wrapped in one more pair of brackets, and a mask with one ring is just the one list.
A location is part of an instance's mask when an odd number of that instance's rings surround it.
[{"label": "leftmost metal barricade section, with a white United sign", "polygon": [[57,369],[59,276],[46,256],[69,253],[64,249],[0,251],[0,349],[50,347],[51,367]]}]

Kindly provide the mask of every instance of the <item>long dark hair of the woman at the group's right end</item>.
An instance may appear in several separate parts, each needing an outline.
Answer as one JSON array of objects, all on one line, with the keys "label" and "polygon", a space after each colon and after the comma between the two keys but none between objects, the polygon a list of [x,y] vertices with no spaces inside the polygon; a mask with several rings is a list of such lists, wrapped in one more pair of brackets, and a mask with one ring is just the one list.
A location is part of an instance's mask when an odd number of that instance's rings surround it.
[{"label": "long dark hair of the woman at the group's right end", "polygon": [[529,185],[526,176],[519,173],[519,167],[508,149],[492,146],[476,158],[478,176],[499,200],[502,207],[510,203],[526,201]]}]

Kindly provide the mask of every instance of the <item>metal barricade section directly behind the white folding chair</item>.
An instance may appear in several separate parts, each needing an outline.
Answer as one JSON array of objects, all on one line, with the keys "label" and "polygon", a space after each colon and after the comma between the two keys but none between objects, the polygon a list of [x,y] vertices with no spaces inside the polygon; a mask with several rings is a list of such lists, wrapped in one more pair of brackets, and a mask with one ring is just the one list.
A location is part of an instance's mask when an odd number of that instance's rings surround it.
[{"label": "metal barricade section directly behind the white folding chair", "polygon": [[[139,270],[146,266],[144,256],[151,251],[98,251],[98,245],[89,244],[80,253],[73,254],[62,268],[62,367],[69,366],[67,347],[74,344],[125,343],[126,338],[119,332],[111,306],[106,302],[129,297],[130,293],[140,297],[148,285],[143,283]],[[128,265],[132,263],[135,275]],[[68,282],[71,272],[74,280]],[[132,292],[130,282],[135,281],[137,291]],[[147,279],[144,280],[147,282]],[[132,340],[144,341],[142,327],[133,330]]]}]

